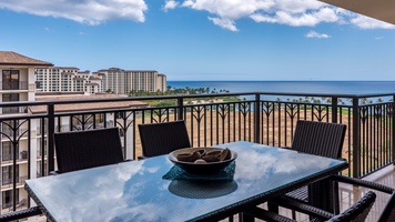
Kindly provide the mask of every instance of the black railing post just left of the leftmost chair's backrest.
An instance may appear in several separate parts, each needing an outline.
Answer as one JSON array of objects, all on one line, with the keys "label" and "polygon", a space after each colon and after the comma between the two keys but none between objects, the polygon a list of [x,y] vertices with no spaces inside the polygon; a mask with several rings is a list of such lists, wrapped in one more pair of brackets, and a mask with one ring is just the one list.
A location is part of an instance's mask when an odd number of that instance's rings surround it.
[{"label": "black railing post just left of the leftmost chair's backrest", "polygon": [[54,104],[48,104],[48,173],[54,171]]}]

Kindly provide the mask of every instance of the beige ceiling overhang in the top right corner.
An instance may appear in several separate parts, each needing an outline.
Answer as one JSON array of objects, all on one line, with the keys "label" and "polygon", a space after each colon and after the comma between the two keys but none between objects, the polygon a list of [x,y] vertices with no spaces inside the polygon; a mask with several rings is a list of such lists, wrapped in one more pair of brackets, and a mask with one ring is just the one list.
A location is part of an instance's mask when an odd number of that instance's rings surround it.
[{"label": "beige ceiling overhang in the top right corner", "polygon": [[395,24],[395,0],[320,0]]}]

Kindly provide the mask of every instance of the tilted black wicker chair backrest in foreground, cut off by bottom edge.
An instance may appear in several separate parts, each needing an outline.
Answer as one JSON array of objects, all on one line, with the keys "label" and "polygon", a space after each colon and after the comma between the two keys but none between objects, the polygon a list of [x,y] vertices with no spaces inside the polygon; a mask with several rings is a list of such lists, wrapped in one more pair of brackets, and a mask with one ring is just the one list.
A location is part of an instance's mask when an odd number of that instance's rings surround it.
[{"label": "tilted black wicker chair backrest in foreground, cut off by bottom edge", "polygon": [[365,222],[367,214],[369,213],[373,203],[376,200],[376,194],[368,191],[356,203],[344,212],[327,220],[330,222]]}]

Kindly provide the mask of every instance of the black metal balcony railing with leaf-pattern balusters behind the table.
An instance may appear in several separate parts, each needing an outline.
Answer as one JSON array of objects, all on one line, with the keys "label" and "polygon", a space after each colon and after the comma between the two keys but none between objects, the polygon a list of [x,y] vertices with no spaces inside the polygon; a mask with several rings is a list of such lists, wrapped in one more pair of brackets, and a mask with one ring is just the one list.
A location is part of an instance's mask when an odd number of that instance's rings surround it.
[{"label": "black metal balcony railing with leaf-pattern balusters behind the table", "polygon": [[[44,107],[39,114],[1,115],[0,130],[13,145],[27,137],[28,168],[37,161],[30,153],[41,151],[43,175],[54,170],[54,132],[119,127],[123,137],[125,158],[141,154],[140,123],[185,120],[193,147],[210,147],[232,141],[252,141],[275,147],[288,147],[300,119],[338,122],[347,125],[343,158],[350,169],[343,172],[361,178],[394,163],[394,94],[305,94],[305,93],[220,93],[179,97],[118,98],[78,101],[36,101],[1,103],[0,108]],[[55,112],[60,104],[84,104],[124,101],[173,101],[172,105],[80,110]],[[69,125],[65,125],[68,122]],[[26,129],[20,132],[20,129]],[[40,132],[37,130],[40,129]],[[17,133],[18,132],[18,133]],[[38,134],[43,137],[37,137]],[[11,137],[12,135],[12,137]],[[40,140],[38,142],[38,140]],[[40,145],[38,148],[38,145]],[[21,149],[21,147],[20,147]],[[14,153],[17,157],[17,153]],[[39,155],[38,155],[39,157]],[[17,165],[17,160],[13,160]],[[34,173],[36,176],[36,173]],[[28,178],[31,178],[30,171]],[[14,196],[17,176],[13,178]],[[13,205],[16,209],[16,204]]]}]

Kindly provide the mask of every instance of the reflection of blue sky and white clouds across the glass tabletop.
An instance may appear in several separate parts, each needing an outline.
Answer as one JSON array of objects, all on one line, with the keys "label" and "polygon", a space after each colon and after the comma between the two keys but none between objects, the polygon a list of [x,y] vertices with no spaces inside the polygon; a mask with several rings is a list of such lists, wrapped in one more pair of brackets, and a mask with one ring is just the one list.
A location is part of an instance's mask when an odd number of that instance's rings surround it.
[{"label": "reflection of blue sky and white clouds across the glass tabletop", "polygon": [[[265,190],[298,180],[305,173],[315,173],[315,168],[326,169],[331,164],[328,160],[295,155],[295,151],[260,144],[251,149],[245,148],[245,144],[241,142],[229,147],[239,155],[234,176],[237,190],[215,199],[191,201],[170,192],[171,181],[162,179],[172,167],[168,159],[131,161],[41,178],[34,181],[33,189],[45,196],[41,196],[42,203],[51,208],[51,213],[59,221],[180,221],[198,216],[201,212],[211,212],[217,202],[240,201],[261,194]],[[68,198],[62,192],[74,195]],[[179,210],[185,206],[191,210]]]}]

